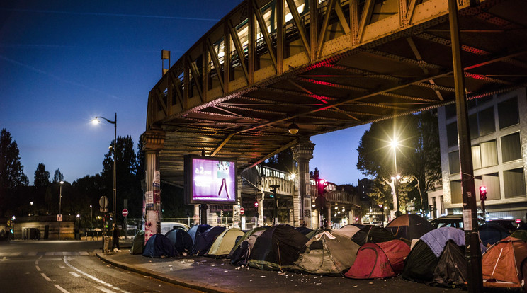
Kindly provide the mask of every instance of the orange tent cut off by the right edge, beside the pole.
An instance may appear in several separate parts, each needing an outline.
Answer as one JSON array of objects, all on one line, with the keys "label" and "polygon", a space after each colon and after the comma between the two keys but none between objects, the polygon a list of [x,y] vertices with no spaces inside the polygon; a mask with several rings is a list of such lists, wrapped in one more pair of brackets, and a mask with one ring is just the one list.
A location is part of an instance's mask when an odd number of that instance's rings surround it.
[{"label": "orange tent cut off by the right edge, beside the pole", "polygon": [[491,246],[482,258],[483,286],[521,288],[527,278],[527,243],[506,237]]}]

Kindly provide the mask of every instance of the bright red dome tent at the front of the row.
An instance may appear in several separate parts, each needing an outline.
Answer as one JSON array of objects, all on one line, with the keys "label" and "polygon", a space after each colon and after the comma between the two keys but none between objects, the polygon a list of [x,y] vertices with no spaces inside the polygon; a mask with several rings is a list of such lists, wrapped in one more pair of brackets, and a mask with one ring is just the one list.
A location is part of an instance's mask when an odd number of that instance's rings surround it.
[{"label": "bright red dome tent at the front of the row", "polygon": [[402,272],[404,258],[408,253],[408,244],[399,239],[365,243],[358,250],[355,263],[344,276],[352,279],[395,277]]}]

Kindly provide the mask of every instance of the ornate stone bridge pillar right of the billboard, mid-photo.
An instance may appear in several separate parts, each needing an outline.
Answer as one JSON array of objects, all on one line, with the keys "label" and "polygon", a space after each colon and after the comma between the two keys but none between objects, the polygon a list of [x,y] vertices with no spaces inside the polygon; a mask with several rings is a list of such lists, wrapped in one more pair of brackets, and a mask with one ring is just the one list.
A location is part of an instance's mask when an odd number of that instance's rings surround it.
[{"label": "ornate stone bridge pillar right of the billboard, mid-photo", "polygon": [[[310,159],[313,159],[314,144],[308,138],[300,139],[293,147],[293,159],[298,163],[298,186],[300,193],[300,210],[295,211],[300,225],[305,224],[312,229],[311,224],[311,195],[310,195]],[[294,205],[296,206],[296,205]]]}]

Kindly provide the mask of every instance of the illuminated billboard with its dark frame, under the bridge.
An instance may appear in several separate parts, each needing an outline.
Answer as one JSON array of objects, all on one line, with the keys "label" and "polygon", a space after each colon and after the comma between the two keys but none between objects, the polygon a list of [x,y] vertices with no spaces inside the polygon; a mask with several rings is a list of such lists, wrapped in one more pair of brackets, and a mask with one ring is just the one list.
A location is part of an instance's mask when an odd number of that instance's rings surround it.
[{"label": "illuminated billboard with its dark frame, under the bridge", "polygon": [[236,160],[185,156],[185,195],[188,204],[236,203]]}]

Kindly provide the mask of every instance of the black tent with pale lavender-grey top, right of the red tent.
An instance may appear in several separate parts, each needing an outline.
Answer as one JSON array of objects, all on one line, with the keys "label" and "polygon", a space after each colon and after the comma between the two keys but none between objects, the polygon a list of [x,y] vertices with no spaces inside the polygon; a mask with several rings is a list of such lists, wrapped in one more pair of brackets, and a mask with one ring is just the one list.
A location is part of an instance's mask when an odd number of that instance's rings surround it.
[{"label": "black tent with pale lavender-grey top, right of the red tent", "polygon": [[[402,277],[416,282],[433,281],[433,272],[448,241],[465,246],[465,232],[453,227],[441,227],[421,236],[404,262]],[[480,248],[482,251],[486,249],[481,243]]]}]

